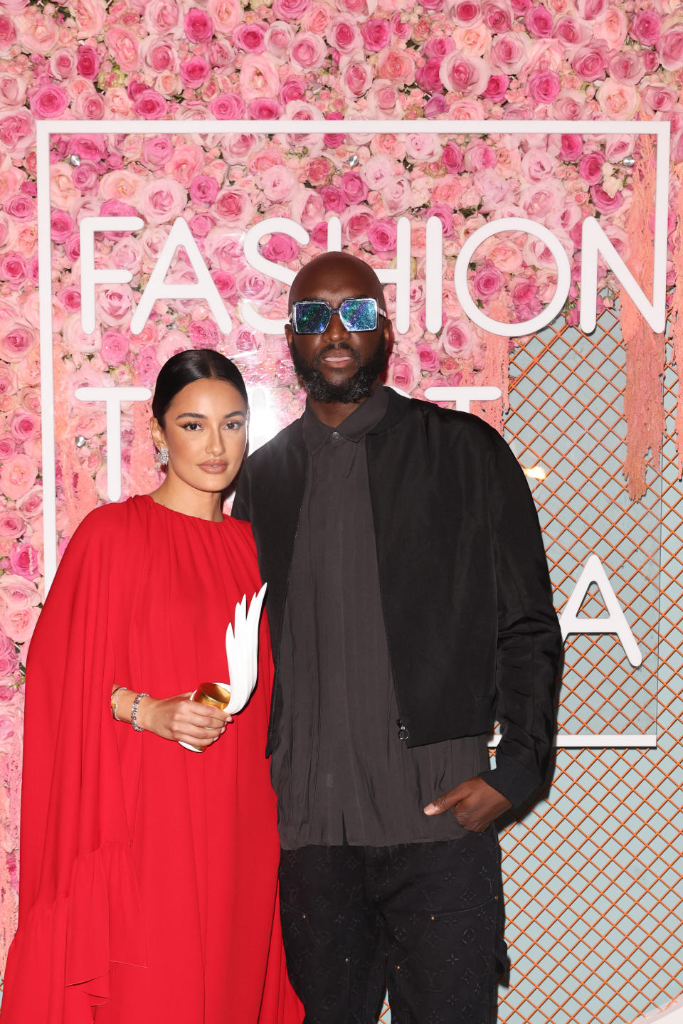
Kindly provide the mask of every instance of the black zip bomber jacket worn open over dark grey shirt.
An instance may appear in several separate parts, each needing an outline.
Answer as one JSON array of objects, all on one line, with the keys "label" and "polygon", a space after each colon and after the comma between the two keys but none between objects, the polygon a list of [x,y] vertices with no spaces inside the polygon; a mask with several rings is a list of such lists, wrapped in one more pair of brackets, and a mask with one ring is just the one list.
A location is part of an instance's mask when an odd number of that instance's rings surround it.
[{"label": "black zip bomber jacket worn open over dark grey shirt", "polygon": [[[561,638],[539,521],[517,460],[478,417],[389,389],[366,436],[382,608],[408,745],[492,730],[496,769],[481,777],[513,805],[544,779],[555,732]],[[258,449],[232,515],[251,522],[275,678],[289,570],[306,482],[301,420]]]}]

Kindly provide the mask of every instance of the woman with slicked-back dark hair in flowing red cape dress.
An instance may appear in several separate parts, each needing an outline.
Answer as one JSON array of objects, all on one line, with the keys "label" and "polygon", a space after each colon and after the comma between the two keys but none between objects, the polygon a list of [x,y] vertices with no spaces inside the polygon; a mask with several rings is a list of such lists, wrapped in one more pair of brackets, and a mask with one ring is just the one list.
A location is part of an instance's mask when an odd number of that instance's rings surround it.
[{"label": "woman with slicked-back dark hair in flowing red cape dress", "polygon": [[244,381],[216,352],[181,352],[153,411],[165,481],[86,517],[31,643],[2,1024],[303,1016],[280,935],[265,615],[244,711],[187,699],[226,681],[226,628],[261,586],[249,525],[221,514],[246,445]]}]

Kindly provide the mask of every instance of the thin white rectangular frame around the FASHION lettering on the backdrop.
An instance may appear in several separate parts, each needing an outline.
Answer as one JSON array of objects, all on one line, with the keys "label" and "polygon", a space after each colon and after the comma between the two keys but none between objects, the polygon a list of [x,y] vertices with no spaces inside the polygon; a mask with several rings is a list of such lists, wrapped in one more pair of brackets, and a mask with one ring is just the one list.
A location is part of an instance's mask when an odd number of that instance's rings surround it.
[{"label": "thin white rectangular frame around the FASHION lettering on the backdrop", "polygon": [[[38,121],[36,179],[38,188],[38,287],[40,302],[40,383],[42,414],[42,482],[45,593],[57,565],[56,461],[54,447],[54,374],[52,351],[52,272],[50,239],[50,136],[59,135],[654,135],[654,266],[652,302],[667,289],[667,227],[671,125],[668,121]],[[496,745],[494,737],[490,745]],[[563,735],[561,748],[652,748],[656,735]]]}]

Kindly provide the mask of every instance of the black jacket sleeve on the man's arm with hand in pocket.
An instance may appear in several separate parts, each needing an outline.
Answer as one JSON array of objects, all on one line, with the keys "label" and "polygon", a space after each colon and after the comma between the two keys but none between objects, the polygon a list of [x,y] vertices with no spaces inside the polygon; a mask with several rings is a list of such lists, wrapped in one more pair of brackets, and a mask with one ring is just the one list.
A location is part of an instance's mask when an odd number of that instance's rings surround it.
[{"label": "black jacket sleeve on the man's arm with hand in pocket", "polygon": [[526,478],[499,438],[489,463],[489,517],[498,603],[497,715],[502,738],[481,773],[511,804],[544,780],[555,734],[562,641]]}]

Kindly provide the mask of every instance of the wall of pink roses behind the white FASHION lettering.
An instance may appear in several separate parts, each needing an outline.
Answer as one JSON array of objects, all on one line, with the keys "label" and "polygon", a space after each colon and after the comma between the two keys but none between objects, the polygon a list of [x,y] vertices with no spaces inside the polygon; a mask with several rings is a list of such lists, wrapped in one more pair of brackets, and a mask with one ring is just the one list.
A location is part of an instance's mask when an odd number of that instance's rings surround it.
[{"label": "wall of pink roses behind the white FASHION lettering", "polygon": [[[349,251],[390,266],[396,218],[409,216],[412,321],[398,337],[389,381],[417,396],[438,384],[498,384],[502,402],[478,411],[500,427],[509,342],[472,325],[460,308],[449,271],[465,238],[492,216],[526,216],[550,227],[571,262],[564,315],[575,324],[584,218],[598,217],[624,258],[641,252],[634,245],[647,251],[652,229],[642,191],[651,184],[650,143],[632,134],[520,137],[513,122],[671,122],[673,286],[683,272],[676,234],[682,77],[683,8],[670,0],[0,0],[0,970],[16,911],[23,665],[43,593],[36,119],[256,122],[254,134],[127,135],[113,126],[85,135],[65,125],[52,137],[61,549],[83,515],[105,500],[104,411],[78,402],[76,388],[148,386],[175,351],[209,346],[238,360],[274,427],[298,415],[301,395],[284,339],[240,317],[245,300],[266,316],[286,310],[286,288],[244,258],[245,230],[264,217],[291,218],[309,232],[306,246],[284,233],[261,244],[267,259],[296,269],[324,251],[333,216]],[[258,133],[259,120],[280,118],[330,125],[321,135]],[[336,131],[341,119],[357,120],[357,132]],[[395,120],[396,133],[364,133],[364,119]],[[411,133],[415,119],[509,121],[510,133]],[[85,335],[78,226],[97,214],[135,214],[145,226],[96,236],[96,262],[133,276],[130,285],[98,289],[97,327]],[[179,215],[230,311],[229,335],[204,303],[189,301],[160,302],[142,334],[129,330]],[[443,229],[438,334],[425,330],[429,215]],[[613,302],[614,283],[601,272],[598,309]],[[543,243],[517,233],[484,243],[469,276],[484,312],[517,321],[552,297],[556,271]],[[195,280],[182,250],[169,280]],[[642,283],[647,291],[646,274]],[[394,292],[387,288],[390,310]],[[683,310],[673,288],[669,301],[675,318]],[[649,388],[656,399],[663,339],[642,323],[625,337],[637,393]],[[657,442],[644,426],[638,433],[640,407],[631,406],[633,451],[642,462]],[[147,418],[140,403],[124,409],[124,494],[148,490],[157,479]],[[627,472],[635,476],[634,465]]]}]

